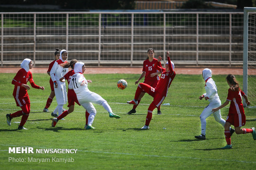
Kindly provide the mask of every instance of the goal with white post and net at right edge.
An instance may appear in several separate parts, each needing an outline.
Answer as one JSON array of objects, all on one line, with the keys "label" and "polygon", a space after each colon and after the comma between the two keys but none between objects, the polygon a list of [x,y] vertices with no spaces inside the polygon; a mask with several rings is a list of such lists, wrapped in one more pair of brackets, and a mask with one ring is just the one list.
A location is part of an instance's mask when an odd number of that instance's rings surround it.
[{"label": "goal with white post and net at right edge", "polygon": [[244,8],[243,91],[250,107],[256,107],[256,8],[252,7]]}]

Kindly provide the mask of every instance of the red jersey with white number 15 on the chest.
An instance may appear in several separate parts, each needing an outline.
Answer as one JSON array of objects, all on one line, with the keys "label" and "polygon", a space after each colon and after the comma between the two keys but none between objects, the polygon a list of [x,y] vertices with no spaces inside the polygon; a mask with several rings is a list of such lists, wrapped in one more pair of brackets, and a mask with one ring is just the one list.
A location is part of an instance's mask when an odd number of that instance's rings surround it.
[{"label": "red jersey with white number 15 on the chest", "polygon": [[161,63],[157,62],[156,58],[153,58],[153,61],[150,62],[149,59],[145,60],[143,62],[143,68],[142,68],[142,72],[146,72],[145,75],[145,80],[149,80],[149,81],[158,81],[159,80],[159,76],[155,75],[154,77],[150,77],[150,75],[154,72],[157,72],[156,68],[154,68],[154,65],[158,65],[159,67],[161,67]]}]

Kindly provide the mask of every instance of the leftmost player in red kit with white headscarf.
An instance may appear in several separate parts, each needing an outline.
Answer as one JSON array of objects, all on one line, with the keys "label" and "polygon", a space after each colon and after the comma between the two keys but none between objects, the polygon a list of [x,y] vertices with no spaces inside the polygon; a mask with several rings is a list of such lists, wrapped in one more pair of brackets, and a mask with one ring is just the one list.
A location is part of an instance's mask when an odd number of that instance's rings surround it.
[{"label": "leftmost player in red kit with white headscarf", "polygon": [[27,129],[24,128],[24,124],[26,123],[29,112],[30,112],[30,100],[28,96],[27,90],[30,87],[27,85],[29,81],[33,88],[38,88],[44,90],[43,86],[38,86],[34,83],[32,73],[29,71],[33,67],[33,63],[31,59],[25,58],[21,63],[21,69],[17,72],[16,76],[12,80],[12,84],[14,84],[13,97],[16,101],[16,105],[21,107],[21,110],[12,114],[6,114],[7,124],[11,126],[11,120],[14,117],[21,117],[21,123],[19,124],[18,129]]}]

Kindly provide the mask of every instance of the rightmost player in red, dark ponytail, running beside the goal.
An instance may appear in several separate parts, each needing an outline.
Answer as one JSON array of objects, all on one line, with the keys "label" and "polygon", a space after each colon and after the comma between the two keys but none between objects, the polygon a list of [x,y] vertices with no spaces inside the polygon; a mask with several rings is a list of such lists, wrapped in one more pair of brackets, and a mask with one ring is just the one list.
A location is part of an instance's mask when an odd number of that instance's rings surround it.
[{"label": "rightmost player in red, dark ponytail, running beside the goal", "polygon": [[226,105],[230,103],[229,111],[228,111],[228,117],[226,120],[226,123],[224,125],[225,131],[225,138],[227,145],[221,149],[231,149],[231,138],[230,138],[230,126],[235,126],[235,133],[236,134],[245,134],[245,133],[251,133],[254,140],[256,140],[256,131],[255,128],[242,128],[242,126],[246,123],[246,117],[244,114],[244,107],[242,104],[242,96],[245,99],[245,102],[247,105],[250,105],[250,102],[247,98],[247,95],[244,94],[244,92],[240,89],[239,83],[237,82],[237,79],[234,75],[228,75],[226,77],[226,80],[228,82],[228,85],[230,88],[228,89],[228,97],[227,100],[219,107],[212,109],[213,112],[216,112],[218,109],[221,109],[225,107]]}]

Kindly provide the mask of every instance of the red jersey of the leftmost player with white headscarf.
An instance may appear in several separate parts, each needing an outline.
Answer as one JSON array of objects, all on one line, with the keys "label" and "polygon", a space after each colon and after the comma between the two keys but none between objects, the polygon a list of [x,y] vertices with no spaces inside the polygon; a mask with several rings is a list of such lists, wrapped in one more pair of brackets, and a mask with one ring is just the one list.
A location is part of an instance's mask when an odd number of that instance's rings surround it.
[{"label": "red jersey of the leftmost player with white headscarf", "polygon": [[14,84],[12,95],[16,97],[27,96],[28,92],[21,84],[27,84],[28,81],[34,82],[32,73],[30,71],[26,72],[24,68],[21,68],[12,80],[12,84]]}]

